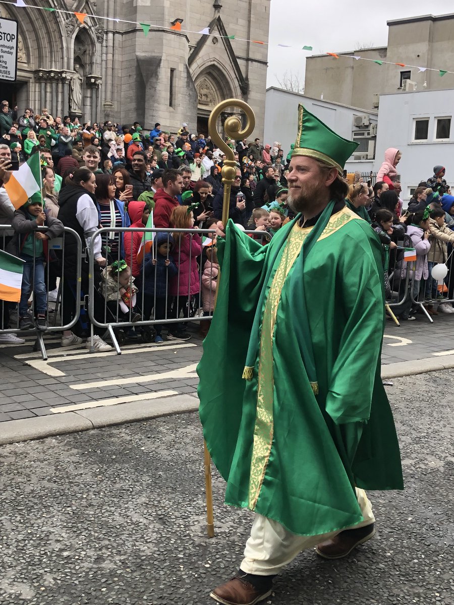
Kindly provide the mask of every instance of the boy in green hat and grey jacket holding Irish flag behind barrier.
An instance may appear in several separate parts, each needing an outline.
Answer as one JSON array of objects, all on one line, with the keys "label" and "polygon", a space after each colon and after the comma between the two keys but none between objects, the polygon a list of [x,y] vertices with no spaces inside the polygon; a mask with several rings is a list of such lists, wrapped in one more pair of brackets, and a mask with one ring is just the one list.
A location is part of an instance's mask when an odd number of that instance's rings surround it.
[{"label": "boy in green hat and grey jacket holding Irish flag behind barrier", "polygon": [[[47,290],[45,286],[44,263],[48,259],[48,240],[63,232],[63,224],[58,218],[46,214],[41,192],[31,196],[15,211],[12,227],[15,236],[7,247],[7,252],[25,261],[22,273],[21,300],[19,302],[19,329],[33,328],[28,315],[28,296],[33,287],[36,310],[36,328],[47,330]],[[40,229],[41,227],[41,229]],[[42,229],[48,227],[48,229]]]}]

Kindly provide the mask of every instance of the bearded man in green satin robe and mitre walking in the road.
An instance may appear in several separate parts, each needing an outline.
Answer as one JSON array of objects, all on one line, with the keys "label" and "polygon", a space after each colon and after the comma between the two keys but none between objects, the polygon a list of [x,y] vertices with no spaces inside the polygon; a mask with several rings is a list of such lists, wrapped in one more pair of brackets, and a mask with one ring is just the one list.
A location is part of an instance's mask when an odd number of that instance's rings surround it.
[{"label": "bearded man in green satin robe and mitre walking in the road", "polygon": [[255,512],[237,577],[211,593],[219,603],[268,597],[303,549],[348,554],[375,533],[364,489],[403,488],[380,378],[381,245],[344,201],[354,149],[300,105],[288,175],[297,217],[268,246],[218,225],[200,418],[226,503]]}]

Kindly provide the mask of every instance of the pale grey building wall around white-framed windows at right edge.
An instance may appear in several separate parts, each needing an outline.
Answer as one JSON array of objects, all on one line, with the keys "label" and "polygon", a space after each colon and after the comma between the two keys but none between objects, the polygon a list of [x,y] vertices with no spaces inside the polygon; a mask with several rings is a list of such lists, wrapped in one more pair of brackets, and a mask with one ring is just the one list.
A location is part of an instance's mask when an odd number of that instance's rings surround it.
[{"label": "pale grey building wall around white-framed windows at right edge", "polygon": [[[378,171],[384,151],[396,147],[402,152],[398,164],[401,175],[402,197],[408,200],[411,187],[432,176],[433,166],[446,166],[448,183],[454,185],[454,120],[451,123],[450,140],[435,142],[435,118],[454,117],[454,90],[417,91],[415,93],[384,94],[378,113],[377,152],[374,170]],[[414,120],[429,118],[427,142],[413,142]]]}]

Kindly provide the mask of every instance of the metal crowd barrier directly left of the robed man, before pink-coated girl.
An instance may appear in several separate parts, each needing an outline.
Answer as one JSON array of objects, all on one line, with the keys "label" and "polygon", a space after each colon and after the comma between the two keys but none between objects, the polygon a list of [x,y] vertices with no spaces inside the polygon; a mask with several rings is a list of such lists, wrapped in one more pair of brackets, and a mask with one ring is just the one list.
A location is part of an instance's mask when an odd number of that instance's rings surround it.
[{"label": "metal crowd barrier directly left of the robed man, before pink-coated girl", "polygon": [[[165,259],[161,258],[160,261],[169,260],[169,257],[173,258],[173,262],[177,267],[177,273],[172,276],[169,275],[171,272],[167,270],[165,283],[162,284],[162,282],[158,283],[158,273],[155,268],[154,284],[149,289],[154,290],[154,293],[147,294],[145,292],[146,287],[144,288],[143,286],[147,283],[150,284],[150,278],[147,274],[153,273],[150,261],[153,260],[157,250],[156,244],[152,246],[150,255],[147,257],[147,262],[142,264],[139,274],[134,277],[134,284],[139,286],[136,302],[135,304],[130,304],[126,312],[124,307],[123,310],[121,309],[119,296],[117,296],[116,301],[108,301],[105,298],[104,294],[107,292],[105,284],[106,272],[97,267],[93,256],[94,240],[97,237],[101,237],[102,256],[107,258],[109,266],[115,261],[125,260],[129,267],[133,267],[133,247],[131,246],[128,258],[123,259],[121,253],[122,234],[125,234],[125,232],[131,234],[136,232],[154,234],[154,238],[157,238],[159,234],[164,234],[163,242],[167,244],[169,244],[172,234],[189,236],[189,245],[186,246],[186,249],[189,249],[189,257],[185,258],[187,255],[182,255],[180,247],[173,253],[167,252]],[[271,236],[265,231],[246,231],[246,234],[254,235],[254,238],[259,237],[265,241],[271,240]],[[202,286],[206,295],[208,286],[205,284],[213,273],[215,263],[214,258],[208,252],[211,246],[202,245],[202,252],[199,252],[199,244],[194,241],[194,236],[196,235],[200,236],[202,240],[203,238],[212,240],[215,232],[209,229],[147,229],[146,227],[116,227],[114,229],[104,227],[94,232],[91,237],[89,259],[90,275],[93,276],[93,279],[90,280],[88,296],[88,316],[91,322],[91,336],[93,336],[95,328],[103,330],[104,333],[107,331],[117,355],[120,355],[120,345],[128,341],[128,339],[141,339],[143,342],[152,341],[156,336],[156,327],[160,330],[165,328],[172,335],[175,332],[179,333],[185,330],[186,325],[189,323],[201,322],[202,326],[203,321],[211,321],[215,290],[209,290],[210,293],[207,301],[206,297],[203,298],[202,296]],[[188,280],[187,286],[182,286],[182,261],[185,263],[185,267],[191,267],[194,258],[197,260],[197,278],[192,276],[192,279]],[[206,279],[203,277],[204,272]],[[122,287],[118,275],[116,278],[116,287],[117,291]],[[161,294],[165,291],[164,295],[157,296],[156,292],[158,289]],[[114,298],[114,296],[111,298]],[[109,302],[113,302],[114,304],[109,304]],[[205,312],[203,312],[204,302],[205,307],[209,308]],[[153,318],[151,318],[152,310]],[[159,317],[156,318],[156,315],[159,315]],[[203,332],[202,329],[201,331]],[[107,337],[106,334],[105,336]],[[172,339],[177,339],[177,337],[174,336]]]}]

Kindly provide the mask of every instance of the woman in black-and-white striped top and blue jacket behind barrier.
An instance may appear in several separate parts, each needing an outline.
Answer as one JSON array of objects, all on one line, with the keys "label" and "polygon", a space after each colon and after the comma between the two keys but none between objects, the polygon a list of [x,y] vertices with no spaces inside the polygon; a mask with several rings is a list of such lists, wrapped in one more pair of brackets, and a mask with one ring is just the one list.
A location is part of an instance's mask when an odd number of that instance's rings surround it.
[{"label": "woman in black-and-white striped top and blue jacket behind barrier", "polygon": [[[96,175],[96,205],[101,227],[129,227],[130,217],[125,211],[125,204],[115,197],[115,178],[111,174]],[[125,258],[123,234],[107,231],[102,235],[102,249],[109,263]]]}]

